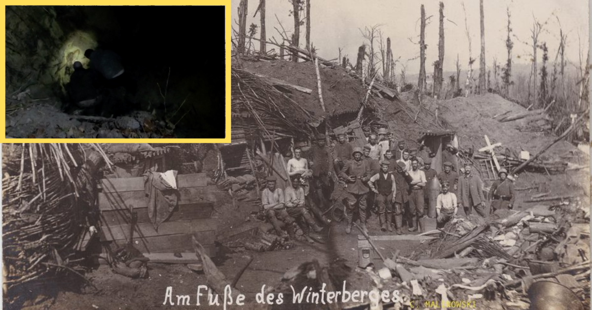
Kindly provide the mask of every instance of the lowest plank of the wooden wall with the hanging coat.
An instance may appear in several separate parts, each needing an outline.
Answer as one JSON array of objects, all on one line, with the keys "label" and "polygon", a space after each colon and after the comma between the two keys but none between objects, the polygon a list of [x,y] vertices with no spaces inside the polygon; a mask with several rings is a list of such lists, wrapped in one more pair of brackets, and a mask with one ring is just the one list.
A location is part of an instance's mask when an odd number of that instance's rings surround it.
[{"label": "lowest plank of the wooden wall with the hanging coat", "polygon": [[[134,247],[142,253],[175,253],[184,251],[189,251],[189,253],[192,253],[192,235],[204,245],[214,245],[214,231],[194,232],[193,234],[134,238],[132,242]],[[112,242],[117,247],[125,247],[127,245],[126,239],[113,240]]]}]

